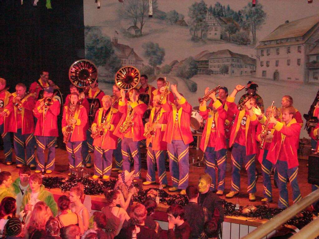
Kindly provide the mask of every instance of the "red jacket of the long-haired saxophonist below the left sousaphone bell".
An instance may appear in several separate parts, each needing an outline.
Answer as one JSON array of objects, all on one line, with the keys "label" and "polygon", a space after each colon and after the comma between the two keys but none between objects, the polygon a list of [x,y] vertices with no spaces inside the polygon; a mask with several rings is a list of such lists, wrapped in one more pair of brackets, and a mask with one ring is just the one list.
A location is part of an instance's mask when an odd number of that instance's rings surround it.
[{"label": "red jacket of the long-haired saxophonist below the left sousaphone bell", "polygon": [[[68,125],[70,115],[69,106],[64,106],[62,117],[62,133]],[[85,126],[87,124],[87,113],[84,106],[80,105],[78,110],[74,113],[74,119],[77,120],[75,124],[72,124],[73,132],[71,133],[70,142],[84,141],[86,140]]]}]

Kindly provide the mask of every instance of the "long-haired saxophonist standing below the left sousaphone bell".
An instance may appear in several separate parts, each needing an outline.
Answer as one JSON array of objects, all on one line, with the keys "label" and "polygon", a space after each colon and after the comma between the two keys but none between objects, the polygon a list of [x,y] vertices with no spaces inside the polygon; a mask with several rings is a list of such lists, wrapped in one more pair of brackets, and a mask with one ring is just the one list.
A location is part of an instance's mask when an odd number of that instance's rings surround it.
[{"label": "long-haired saxophonist standing below the left sousaphone bell", "polygon": [[[72,92],[70,102],[63,108],[62,133],[66,138],[66,151],[69,158],[69,169],[82,166],[82,141],[86,140],[85,127],[87,113],[85,107],[80,105],[78,93]],[[67,127],[73,131],[68,133]],[[67,136],[66,136],[67,135]],[[74,157],[72,157],[72,155]],[[69,173],[70,175],[71,173]]]}]

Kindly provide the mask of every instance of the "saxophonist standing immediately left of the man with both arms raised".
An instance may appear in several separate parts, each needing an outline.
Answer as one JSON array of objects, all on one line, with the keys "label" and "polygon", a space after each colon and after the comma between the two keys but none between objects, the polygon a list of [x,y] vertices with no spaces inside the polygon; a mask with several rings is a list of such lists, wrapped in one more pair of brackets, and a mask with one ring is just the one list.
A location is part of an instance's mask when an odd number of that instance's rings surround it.
[{"label": "saxophonist standing immediately left of the man with both arms raised", "polygon": [[146,182],[144,182],[143,185],[155,183],[156,163],[159,183],[162,183],[163,187],[165,187],[167,185],[165,168],[165,151],[167,150],[167,142],[163,141],[163,136],[167,126],[167,112],[159,104],[159,98],[160,95],[154,96],[154,107],[151,110],[149,122],[145,124],[145,132],[151,131],[151,133],[146,136],[147,174]]}]

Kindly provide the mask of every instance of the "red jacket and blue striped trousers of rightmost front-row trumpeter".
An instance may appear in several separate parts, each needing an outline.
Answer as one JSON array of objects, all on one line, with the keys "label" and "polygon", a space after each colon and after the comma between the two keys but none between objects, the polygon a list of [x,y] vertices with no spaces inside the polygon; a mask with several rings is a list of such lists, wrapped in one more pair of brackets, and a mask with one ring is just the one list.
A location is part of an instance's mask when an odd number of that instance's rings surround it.
[{"label": "red jacket and blue striped trousers of rightmost front-row trumpeter", "polygon": [[267,159],[276,164],[278,171],[279,200],[278,207],[286,208],[288,204],[287,178],[293,188],[293,203],[301,199],[300,189],[297,182],[298,157],[297,144],[301,130],[296,119],[292,119],[287,125],[285,122],[277,122],[276,130],[271,141]]}]

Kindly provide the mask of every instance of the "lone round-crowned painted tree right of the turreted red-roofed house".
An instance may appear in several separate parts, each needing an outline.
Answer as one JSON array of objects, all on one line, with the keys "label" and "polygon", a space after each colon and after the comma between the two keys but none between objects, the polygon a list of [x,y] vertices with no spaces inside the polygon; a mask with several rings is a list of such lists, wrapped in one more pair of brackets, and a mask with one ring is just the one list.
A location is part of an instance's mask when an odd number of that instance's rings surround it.
[{"label": "lone round-crowned painted tree right of the turreted red-roofed house", "polygon": [[144,56],[148,59],[148,63],[153,67],[155,73],[155,67],[164,61],[165,49],[151,41],[143,44],[142,47],[144,48]]}]

